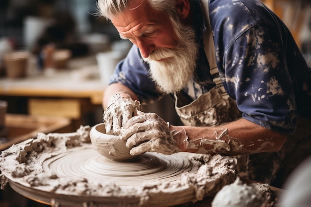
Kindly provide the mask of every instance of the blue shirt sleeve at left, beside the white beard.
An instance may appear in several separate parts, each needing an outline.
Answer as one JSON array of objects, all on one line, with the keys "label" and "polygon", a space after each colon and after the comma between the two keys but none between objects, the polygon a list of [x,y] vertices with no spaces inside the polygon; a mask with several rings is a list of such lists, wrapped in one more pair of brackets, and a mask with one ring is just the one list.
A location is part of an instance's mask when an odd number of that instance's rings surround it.
[{"label": "blue shirt sleeve at left, beside the white beard", "polygon": [[116,82],[133,90],[142,104],[151,103],[163,95],[155,82],[149,78],[149,66],[143,61],[135,45],[127,57],[117,64],[110,77],[109,84]]}]

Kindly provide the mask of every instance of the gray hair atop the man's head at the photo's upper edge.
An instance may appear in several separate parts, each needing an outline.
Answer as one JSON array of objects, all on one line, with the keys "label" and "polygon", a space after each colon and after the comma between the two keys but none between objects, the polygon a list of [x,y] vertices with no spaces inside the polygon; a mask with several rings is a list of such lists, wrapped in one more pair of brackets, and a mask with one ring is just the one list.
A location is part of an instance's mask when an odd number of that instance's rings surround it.
[{"label": "gray hair atop the man's head at the photo's upper edge", "polygon": [[[133,0],[98,0],[97,8],[102,16],[109,19],[112,15],[116,15],[128,9],[128,5],[131,1]],[[142,2],[144,1],[148,1],[154,9],[163,11],[170,17],[176,16],[175,0],[143,0]]]}]

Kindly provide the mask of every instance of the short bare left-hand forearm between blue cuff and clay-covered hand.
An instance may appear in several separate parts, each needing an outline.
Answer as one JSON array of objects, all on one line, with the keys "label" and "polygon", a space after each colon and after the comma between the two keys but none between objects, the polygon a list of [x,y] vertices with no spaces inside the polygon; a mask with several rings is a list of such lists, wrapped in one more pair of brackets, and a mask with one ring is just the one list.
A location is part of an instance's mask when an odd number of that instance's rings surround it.
[{"label": "short bare left-hand forearm between blue cuff and clay-covered hand", "polygon": [[130,95],[133,100],[138,100],[137,95],[127,86],[122,85],[121,83],[112,83],[110,84],[103,95],[103,108],[105,109],[107,106],[107,103],[111,96],[113,96],[116,93],[120,93],[121,95]]}]

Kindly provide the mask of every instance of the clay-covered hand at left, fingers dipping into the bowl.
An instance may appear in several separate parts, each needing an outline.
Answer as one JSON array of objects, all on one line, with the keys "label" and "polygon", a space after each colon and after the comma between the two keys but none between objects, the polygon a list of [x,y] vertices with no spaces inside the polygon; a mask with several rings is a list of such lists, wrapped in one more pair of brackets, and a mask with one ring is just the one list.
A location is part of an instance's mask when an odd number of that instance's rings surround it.
[{"label": "clay-covered hand at left, fingers dipping into the bowl", "polygon": [[106,134],[119,135],[124,124],[138,114],[143,114],[139,101],[134,101],[130,95],[124,93],[113,95],[104,111]]}]

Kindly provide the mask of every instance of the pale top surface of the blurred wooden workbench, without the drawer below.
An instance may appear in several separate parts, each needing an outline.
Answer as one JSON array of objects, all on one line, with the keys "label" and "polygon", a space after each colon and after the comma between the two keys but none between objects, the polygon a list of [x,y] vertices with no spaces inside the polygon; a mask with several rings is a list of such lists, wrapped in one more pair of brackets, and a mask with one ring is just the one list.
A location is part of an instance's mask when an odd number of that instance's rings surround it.
[{"label": "pale top surface of the blurred wooden workbench, without the drawer below", "polygon": [[101,104],[105,85],[93,57],[72,60],[68,69],[37,72],[25,78],[0,78],[0,95],[28,97],[89,98]]}]

